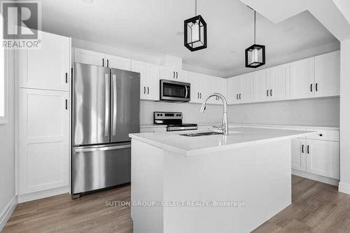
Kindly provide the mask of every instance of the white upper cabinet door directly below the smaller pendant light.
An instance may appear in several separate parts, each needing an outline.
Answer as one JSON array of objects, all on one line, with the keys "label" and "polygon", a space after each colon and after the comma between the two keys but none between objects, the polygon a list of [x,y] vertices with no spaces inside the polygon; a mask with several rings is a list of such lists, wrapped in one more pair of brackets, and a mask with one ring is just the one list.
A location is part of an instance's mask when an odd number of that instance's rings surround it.
[{"label": "white upper cabinet door directly below the smaller pendant light", "polygon": [[255,102],[267,101],[269,90],[267,87],[267,75],[269,69],[262,69],[253,73],[253,100]]}]

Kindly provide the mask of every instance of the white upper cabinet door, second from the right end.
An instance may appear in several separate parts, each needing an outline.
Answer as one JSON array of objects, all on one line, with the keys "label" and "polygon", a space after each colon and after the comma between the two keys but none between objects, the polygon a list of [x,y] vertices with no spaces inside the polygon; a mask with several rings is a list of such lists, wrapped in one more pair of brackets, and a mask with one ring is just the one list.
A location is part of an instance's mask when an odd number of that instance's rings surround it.
[{"label": "white upper cabinet door, second from the right end", "polygon": [[290,95],[292,99],[314,97],[314,57],[290,64]]}]

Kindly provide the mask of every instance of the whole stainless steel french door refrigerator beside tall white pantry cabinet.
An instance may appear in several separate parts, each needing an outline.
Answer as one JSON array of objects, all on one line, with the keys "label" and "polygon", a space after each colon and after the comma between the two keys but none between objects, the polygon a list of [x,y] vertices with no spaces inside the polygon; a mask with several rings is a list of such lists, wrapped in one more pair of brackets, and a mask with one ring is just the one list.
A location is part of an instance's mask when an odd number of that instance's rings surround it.
[{"label": "whole stainless steel french door refrigerator beside tall white pantry cabinet", "polygon": [[140,74],[75,63],[71,194],[130,182],[131,142],[140,130]]}]

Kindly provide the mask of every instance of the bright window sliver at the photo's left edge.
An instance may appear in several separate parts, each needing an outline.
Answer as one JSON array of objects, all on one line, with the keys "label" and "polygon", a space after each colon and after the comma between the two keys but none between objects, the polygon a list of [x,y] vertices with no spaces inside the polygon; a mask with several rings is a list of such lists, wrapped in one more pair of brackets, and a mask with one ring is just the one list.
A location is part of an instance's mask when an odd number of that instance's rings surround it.
[{"label": "bright window sliver at the photo's left edge", "polygon": [[7,80],[5,75],[5,50],[3,49],[3,16],[0,14],[0,124],[7,122]]}]

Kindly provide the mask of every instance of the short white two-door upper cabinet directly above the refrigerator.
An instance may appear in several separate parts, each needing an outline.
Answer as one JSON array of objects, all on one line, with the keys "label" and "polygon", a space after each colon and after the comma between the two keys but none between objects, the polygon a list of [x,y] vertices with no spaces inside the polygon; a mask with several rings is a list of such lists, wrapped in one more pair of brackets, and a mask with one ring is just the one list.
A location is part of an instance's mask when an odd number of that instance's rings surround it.
[{"label": "short white two-door upper cabinet directly above the refrigerator", "polygon": [[81,48],[74,49],[74,61],[95,66],[123,69],[125,71],[131,70],[131,59],[129,58],[106,55],[101,52],[83,50]]}]

